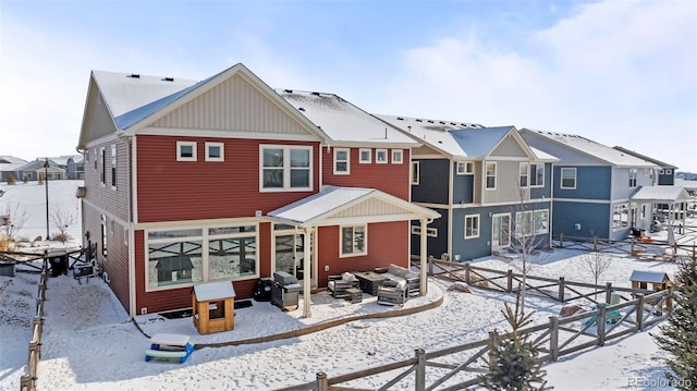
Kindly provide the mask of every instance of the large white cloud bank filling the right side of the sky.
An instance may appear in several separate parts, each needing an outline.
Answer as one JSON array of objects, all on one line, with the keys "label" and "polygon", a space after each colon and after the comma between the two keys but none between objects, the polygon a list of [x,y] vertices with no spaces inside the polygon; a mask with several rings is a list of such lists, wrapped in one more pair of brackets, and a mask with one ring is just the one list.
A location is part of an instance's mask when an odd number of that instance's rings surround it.
[{"label": "large white cloud bank filling the right side of the sky", "polygon": [[576,133],[697,171],[692,2],[580,7],[502,49],[476,28],[414,48],[379,112]]}]

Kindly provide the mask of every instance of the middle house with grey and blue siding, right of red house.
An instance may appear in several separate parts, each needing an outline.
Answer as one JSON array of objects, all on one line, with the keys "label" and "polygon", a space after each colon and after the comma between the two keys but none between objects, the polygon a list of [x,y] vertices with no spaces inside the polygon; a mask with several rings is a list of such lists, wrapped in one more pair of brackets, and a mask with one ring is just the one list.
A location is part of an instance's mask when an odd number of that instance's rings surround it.
[{"label": "middle house with grey and blue siding, right of red house", "polygon": [[[376,115],[423,144],[412,155],[412,201],[442,218],[427,228],[436,257],[473,259],[516,248],[526,237],[550,244],[551,163],[514,126]],[[412,227],[412,249],[421,229]]]}]

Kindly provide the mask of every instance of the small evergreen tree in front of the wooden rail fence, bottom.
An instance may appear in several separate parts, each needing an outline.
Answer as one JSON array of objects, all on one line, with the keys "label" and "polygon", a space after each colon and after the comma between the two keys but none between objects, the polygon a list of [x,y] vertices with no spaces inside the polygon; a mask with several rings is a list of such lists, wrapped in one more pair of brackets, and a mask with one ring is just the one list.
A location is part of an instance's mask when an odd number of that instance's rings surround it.
[{"label": "small evergreen tree in front of the wooden rail fence, bottom", "polygon": [[519,334],[521,328],[533,321],[534,313],[525,314],[519,309],[521,290],[517,291],[515,309],[505,304],[502,310],[505,320],[512,328],[510,337],[500,335],[496,330],[489,346],[489,372],[482,376],[482,386],[487,390],[497,391],[542,391],[546,387],[546,371],[538,358],[539,346],[530,341],[530,334]]}]

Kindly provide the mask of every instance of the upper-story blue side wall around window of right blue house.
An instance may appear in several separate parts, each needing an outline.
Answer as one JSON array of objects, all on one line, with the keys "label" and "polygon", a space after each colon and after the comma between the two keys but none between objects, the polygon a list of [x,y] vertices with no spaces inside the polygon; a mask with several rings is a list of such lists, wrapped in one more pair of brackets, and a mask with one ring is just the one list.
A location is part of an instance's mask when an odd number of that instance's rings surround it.
[{"label": "upper-story blue side wall around window of right blue house", "polygon": [[[576,169],[576,188],[561,188],[562,168]],[[610,167],[597,166],[555,166],[554,167],[554,198],[610,199],[611,175]]]}]

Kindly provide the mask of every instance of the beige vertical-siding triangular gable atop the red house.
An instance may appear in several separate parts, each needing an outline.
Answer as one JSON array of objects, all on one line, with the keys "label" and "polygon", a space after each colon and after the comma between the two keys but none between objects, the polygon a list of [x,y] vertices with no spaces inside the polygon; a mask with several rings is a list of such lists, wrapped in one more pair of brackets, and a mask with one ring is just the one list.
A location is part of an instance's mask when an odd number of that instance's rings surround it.
[{"label": "beige vertical-siding triangular gable atop the red house", "polygon": [[[255,134],[273,133],[282,138],[308,138],[307,127],[269,99],[257,86],[236,73],[184,103],[150,126]],[[266,138],[266,137],[264,137]],[[317,139],[311,137],[311,139]]]}]

